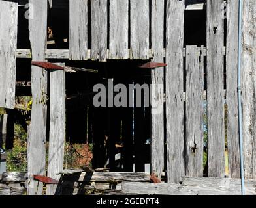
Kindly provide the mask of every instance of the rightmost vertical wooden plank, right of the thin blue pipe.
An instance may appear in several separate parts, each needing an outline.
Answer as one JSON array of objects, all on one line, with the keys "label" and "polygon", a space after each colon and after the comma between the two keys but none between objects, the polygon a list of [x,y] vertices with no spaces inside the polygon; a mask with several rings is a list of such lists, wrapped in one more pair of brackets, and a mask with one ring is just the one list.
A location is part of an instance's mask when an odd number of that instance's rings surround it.
[{"label": "rightmost vertical wooden plank, right of the thin blue pipe", "polygon": [[244,134],[245,177],[256,178],[256,4],[253,0],[244,1],[243,49],[242,49],[242,109]]}]

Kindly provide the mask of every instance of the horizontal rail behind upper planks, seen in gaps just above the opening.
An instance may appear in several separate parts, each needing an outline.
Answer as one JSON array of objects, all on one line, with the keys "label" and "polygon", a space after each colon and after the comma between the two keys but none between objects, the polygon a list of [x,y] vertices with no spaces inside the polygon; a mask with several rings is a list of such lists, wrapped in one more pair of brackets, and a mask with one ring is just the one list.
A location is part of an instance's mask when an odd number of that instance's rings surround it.
[{"label": "horizontal rail behind upper planks, seen in gaps just above the opening", "polygon": [[[197,48],[197,53],[200,54],[201,47]],[[130,50],[128,50],[130,54]],[[183,56],[185,57],[185,48],[183,49]],[[153,58],[152,50],[148,51],[148,56],[150,59]],[[199,55],[198,54],[198,55]],[[223,55],[226,54],[226,47],[223,47]],[[206,47],[204,47],[202,51],[202,55],[206,56]],[[109,50],[106,53],[106,58],[109,59]],[[163,57],[165,57],[165,49],[163,49]],[[16,50],[16,58],[24,58],[24,59],[31,59],[31,49],[17,49]],[[46,50],[46,59],[69,59],[69,49],[47,49]],[[87,59],[91,59],[91,50],[87,51]],[[128,57],[131,59],[131,57]]]}]

